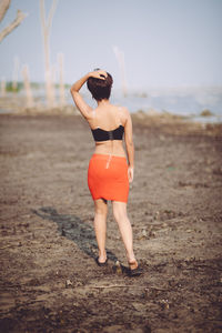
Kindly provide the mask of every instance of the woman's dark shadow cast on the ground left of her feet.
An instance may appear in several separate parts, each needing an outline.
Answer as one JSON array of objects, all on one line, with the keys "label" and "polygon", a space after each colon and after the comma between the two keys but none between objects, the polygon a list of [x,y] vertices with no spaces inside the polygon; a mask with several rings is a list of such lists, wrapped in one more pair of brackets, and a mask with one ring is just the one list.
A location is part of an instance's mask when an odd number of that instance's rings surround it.
[{"label": "woman's dark shadow cast on the ground left of her feet", "polygon": [[[32,213],[37,214],[43,220],[56,222],[62,236],[73,241],[81,251],[95,260],[98,256],[98,245],[94,230],[89,224],[82,222],[79,216],[59,214],[56,209],[50,206],[32,210]],[[110,260],[114,262],[118,260],[115,254],[108,249],[107,254]]]}]

